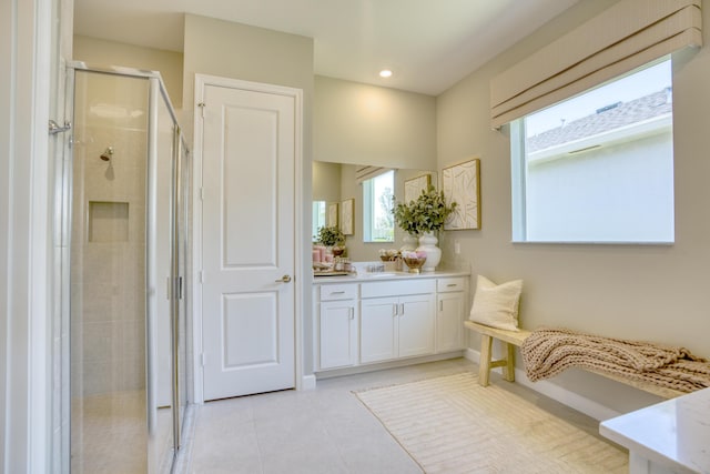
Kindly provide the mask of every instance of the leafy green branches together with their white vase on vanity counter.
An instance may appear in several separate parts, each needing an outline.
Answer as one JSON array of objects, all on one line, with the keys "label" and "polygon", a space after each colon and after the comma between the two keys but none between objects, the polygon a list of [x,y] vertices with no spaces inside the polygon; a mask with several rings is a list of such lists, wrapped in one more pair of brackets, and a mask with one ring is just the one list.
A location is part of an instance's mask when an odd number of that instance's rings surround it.
[{"label": "leafy green branches together with their white vase on vanity counter", "polygon": [[456,202],[446,203],[444,191],[436,191],[433,185],[422,191],[422,194],[408,203],[395,202],[392,210],[397,225],[410,235],[419,238],[417,251],[426,253],[427,259],[423,271],[433,271],[442,260],[442,250],[436,246],[439,231],[449,216]]}]

